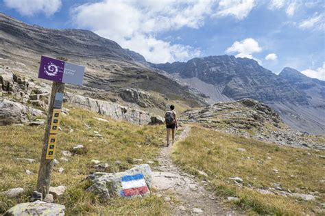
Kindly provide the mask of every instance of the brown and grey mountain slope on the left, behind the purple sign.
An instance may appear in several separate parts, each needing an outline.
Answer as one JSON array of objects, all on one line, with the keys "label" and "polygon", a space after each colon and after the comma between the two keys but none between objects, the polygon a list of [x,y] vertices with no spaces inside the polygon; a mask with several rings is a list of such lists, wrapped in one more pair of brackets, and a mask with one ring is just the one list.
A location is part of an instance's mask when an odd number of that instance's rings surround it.
[{"label": "brown and grey mountain slope on the left, behind the purple sign", "polygon": [[[27,25],[0,13],[0,65],[30,79],[38,75],[40,55],[60,58],[86,66],[84,86],[67,85],[71,92],[101,100],[112,100],[163,113],[170,103],[188,109],[204,104],[204,99],[186,85],[157,73],[145,57],[123,49],[117,42],[80,29],[47,29]],[[123,92],[146,95],[146,104],[126,98]],[[123,95],[123,97],[121,96]],[[142,105],[139,106],[139,105]]]}]

